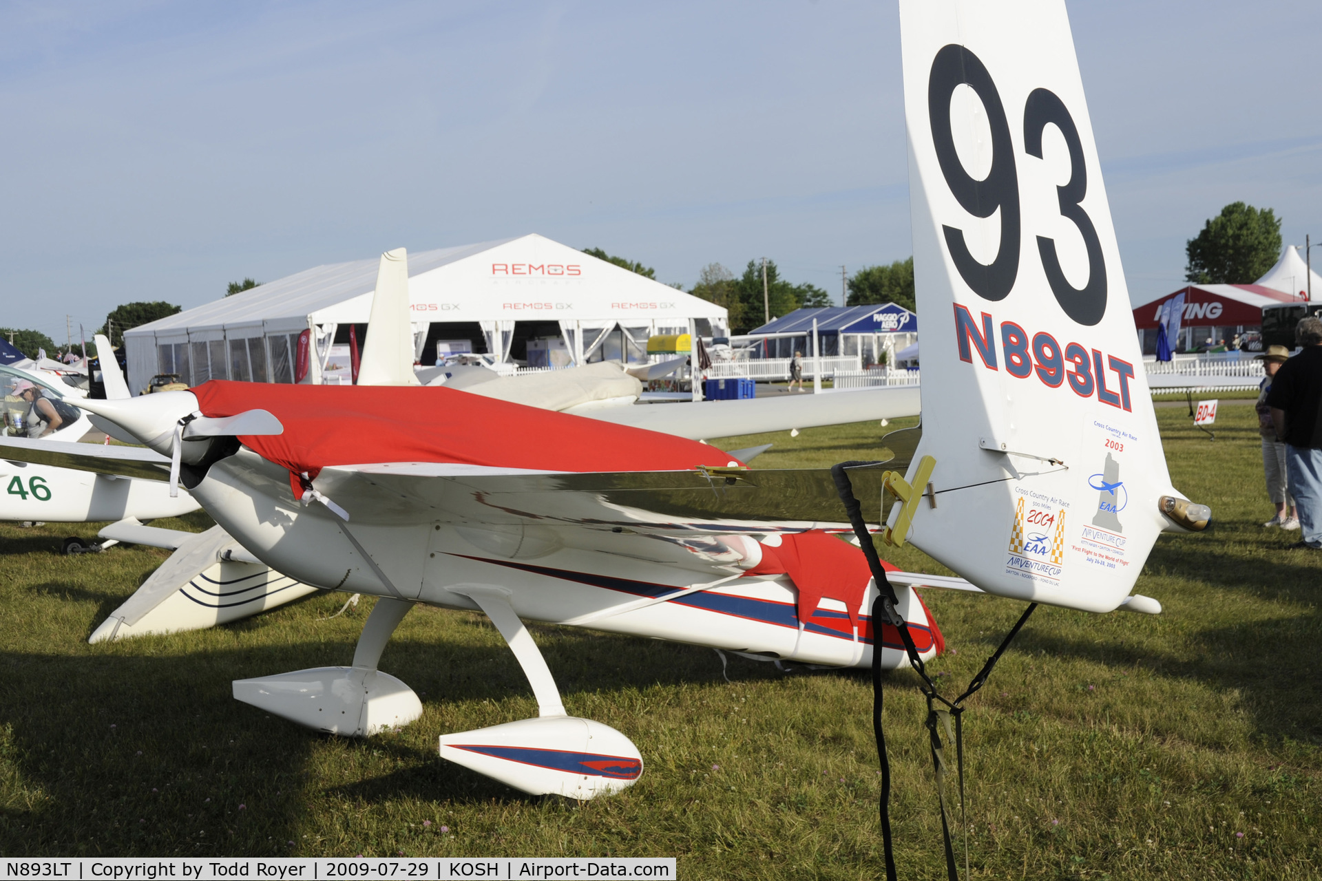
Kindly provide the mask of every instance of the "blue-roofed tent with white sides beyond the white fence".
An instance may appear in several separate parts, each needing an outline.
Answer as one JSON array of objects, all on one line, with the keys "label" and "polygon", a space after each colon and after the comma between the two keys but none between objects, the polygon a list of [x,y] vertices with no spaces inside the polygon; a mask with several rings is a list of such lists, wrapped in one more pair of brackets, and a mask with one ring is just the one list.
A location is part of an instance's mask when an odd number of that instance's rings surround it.
[{"label": "blue-roofed tent with white sides beyond the white fence", "polygon": [[878,362],[887,347],[907,346],[917,338],[917,314],[894,302],[879,302],[795,309],[751,330],[739,342],[755,346],[750,353],[754,358],[788,358],[796,351],[809,355],[813,318],[822,355],[862,355],[865,363]]}]

